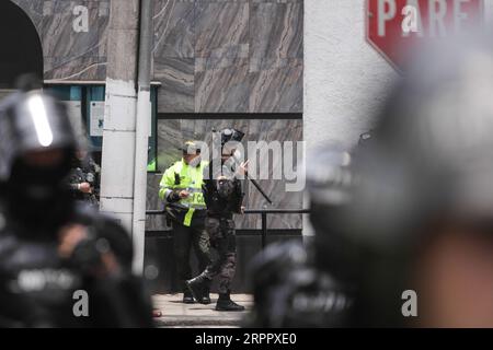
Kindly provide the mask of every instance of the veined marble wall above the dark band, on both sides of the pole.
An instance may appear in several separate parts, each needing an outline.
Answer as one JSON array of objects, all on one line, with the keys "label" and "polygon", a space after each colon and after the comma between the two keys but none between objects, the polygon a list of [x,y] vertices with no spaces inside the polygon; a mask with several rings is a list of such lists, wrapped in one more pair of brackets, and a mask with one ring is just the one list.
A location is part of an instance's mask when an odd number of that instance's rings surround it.
[{"label": "veined marble wall above the dark band, on both sides of the pole", "polygon": [[[12,1],[39,33],[45,79],[105,79],[111,0]],[[302,0],[154,0],[153,20],[159,113],[302,112]]]}]

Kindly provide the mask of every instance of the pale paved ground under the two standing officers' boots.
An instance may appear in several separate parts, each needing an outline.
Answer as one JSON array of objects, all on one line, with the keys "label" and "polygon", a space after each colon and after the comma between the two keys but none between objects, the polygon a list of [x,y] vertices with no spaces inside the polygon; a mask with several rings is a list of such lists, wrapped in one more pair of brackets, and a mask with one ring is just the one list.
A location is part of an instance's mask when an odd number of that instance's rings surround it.
[{"label": "pale paved ground under the two standing officers' boots", "polygon": [[246,307],[246,312],[217,312],[217,294],[210,294],[209,305],[183,304],[182,294],[158,294],[153,296],[154,307],[160,310],[162,317],[154,318],[158,327],[238,327],[241,319],[252,306],[249,294],[233,294],[231,299]]}]

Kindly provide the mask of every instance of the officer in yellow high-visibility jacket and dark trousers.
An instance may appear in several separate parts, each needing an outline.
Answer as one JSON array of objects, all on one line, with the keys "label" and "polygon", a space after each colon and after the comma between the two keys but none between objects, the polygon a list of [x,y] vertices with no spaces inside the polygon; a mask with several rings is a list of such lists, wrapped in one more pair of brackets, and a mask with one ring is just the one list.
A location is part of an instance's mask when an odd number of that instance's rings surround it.
[{"label": "officer in yellow high-visibility jacket and dark trousers", "polygon": [[[200,150],[193,141],[186,141],[182,148],[183,158],[169,167],[161,179],[159,197],[165,203],[167,215],[173,222],[174,254],[183,302],[194,303],[194,298],[185,287],[185,280],[192,278],[190,252],[193,248],[203,271],[210,262],[209,236],[205,231],[206,205],[202,192],[204,167]],[[210,303],[207,292],[204,304]]]}]

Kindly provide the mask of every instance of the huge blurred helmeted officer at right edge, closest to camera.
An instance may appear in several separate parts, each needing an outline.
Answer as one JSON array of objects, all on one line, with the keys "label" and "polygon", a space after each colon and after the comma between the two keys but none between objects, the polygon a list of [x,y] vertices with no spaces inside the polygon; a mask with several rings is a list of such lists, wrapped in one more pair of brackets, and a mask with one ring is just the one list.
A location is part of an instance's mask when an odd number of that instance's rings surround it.
[{"label": "huge blurred helmeted officer at right edge, closest to camera", "polygon": [[493,327],[493,40],[416,63],[358,154],[349,206],[326,212],[352,247],[326,265],[357,281],[351,326]]}]

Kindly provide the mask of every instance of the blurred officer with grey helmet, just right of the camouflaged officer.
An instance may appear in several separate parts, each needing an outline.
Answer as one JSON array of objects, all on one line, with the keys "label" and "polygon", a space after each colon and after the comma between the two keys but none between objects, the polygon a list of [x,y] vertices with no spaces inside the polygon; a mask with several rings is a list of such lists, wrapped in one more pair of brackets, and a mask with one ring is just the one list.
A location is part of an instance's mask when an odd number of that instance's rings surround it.
[{"label": "blurred officer with grey helmet, just right of the camouflaged officer", "polygon": [[328,211],[339,210],[349,199],[351,155],[326,147],[306,163],[314,241],[271,244],[252,259],[249,275],[254,306],[248,327],[347,325],[353,281],[349,276],[334,275],[330,259],[337,259],[340,252],[351,247],[337,242],[324,223]]}]

